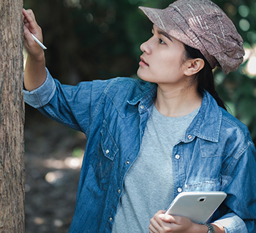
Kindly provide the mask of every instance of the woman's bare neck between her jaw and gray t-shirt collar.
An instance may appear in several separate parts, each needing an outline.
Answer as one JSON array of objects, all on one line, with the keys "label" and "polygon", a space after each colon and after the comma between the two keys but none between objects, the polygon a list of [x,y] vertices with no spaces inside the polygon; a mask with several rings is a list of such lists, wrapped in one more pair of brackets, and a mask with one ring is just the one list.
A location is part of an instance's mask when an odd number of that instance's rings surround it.
[{"label": "woman's bare neck between her jaw and gray t-shirt collar", "polygon": [[187,115],[200,107],[201,103],[202,96],[195,86],[186,89],[163,89],[160,85],[157,88],[157,98],[154,102],[157,110],[167,117]]}]

